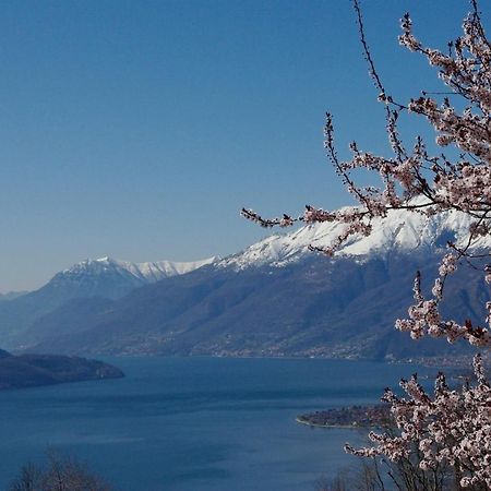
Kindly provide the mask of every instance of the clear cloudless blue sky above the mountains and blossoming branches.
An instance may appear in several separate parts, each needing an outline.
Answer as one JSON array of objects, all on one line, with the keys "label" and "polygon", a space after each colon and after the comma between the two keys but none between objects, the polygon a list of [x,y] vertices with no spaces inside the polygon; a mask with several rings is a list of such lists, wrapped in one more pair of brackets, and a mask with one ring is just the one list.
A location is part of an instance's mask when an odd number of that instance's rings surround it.
[{"label": "clear cloudless blue sky above the mountains and blossoming branches", "polygon": [[[438,86],[397,45],[398,19],[443,47],[468,3],[363,9],[390,92]],[[242,206],[349,203],[324,157],[326,110],[342,153],[386,146],[348,0],[3,1],[0,68],[0,291],[86,258],[237,252],[265,235]]]}]

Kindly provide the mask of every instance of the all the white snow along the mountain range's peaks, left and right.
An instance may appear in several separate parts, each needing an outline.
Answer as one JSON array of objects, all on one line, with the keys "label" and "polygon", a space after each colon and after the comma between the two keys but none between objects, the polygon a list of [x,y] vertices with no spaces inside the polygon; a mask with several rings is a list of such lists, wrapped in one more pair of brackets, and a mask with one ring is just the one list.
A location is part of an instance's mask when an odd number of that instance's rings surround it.
[{"label": "all the white snow along the mountain range's peaks, left and right", "polygon": [[[435,250],[443,249],[448,240],[463,246],[468,240],[471,221],[468,215],[457,211],[428,217],[419,213],[408,213],[405,209],[393,209],[386,217],[373,219],[372,233],[369,237],[352,236],[336,252],[336,255],[363,259],[370,255],[384,255],[392,251]],[[93,275],[115,273],[129,276],[140,284],[146,284],[190,273],[208,264],[233,270],[263,265],[283,266],[311,255],[309,246],[320,248],[332,246],[342,235],[344,227],[344,224],[328,221],[307,225],[289,233],[266,237],[225,259],[214,256],[195,262],[131,263],[105,256],[83,261],[60,275],[84,276],[87,273]],[[491,249],[491,237],[481,237],[476,241],[475,247]]]}]

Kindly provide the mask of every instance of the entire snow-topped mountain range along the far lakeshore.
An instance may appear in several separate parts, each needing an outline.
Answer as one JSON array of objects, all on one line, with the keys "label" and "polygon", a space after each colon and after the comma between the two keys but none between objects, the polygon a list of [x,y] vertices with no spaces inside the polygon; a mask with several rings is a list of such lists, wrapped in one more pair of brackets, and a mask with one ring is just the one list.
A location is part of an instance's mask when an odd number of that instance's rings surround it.
[{"label": "entire snow-topped mountain range along the far lakeshore", "polygon": [[[444,246],[464,243],[468,226],[469,218],[456,212],[428,218],[395,211],[334,259],[308,250],[328,246],[340,232],[342,226],[325,223],[196,263],[85,261],[37,291],[0,302],[0,346],[376,359],[450,352],[441,340],[416,344],[393,326],[410,304],[415,272],[431,288]],[[491,239],[477,247],[491,247]],[[462,268],[447,288],[448,314],[483,319],[489,290],[475,271]]]}]

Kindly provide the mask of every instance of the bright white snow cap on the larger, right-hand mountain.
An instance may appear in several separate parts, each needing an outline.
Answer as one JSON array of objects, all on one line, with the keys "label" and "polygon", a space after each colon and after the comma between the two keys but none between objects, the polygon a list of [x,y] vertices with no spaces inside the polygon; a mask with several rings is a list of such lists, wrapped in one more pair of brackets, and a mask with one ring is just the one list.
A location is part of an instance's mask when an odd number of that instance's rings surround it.
[{"label": "bright white snow cap on the larger, right-hand mountain", "polygon": [[[448,240],[465,244],[469,237],[471,219],[468,215],[448,211],[428,217],[404,209],[394,209],[385,218],[372,221],[369,237],[354,236],[337,252],[337,256],[368,258],[388,252],[411,252],[423,249],[440,249]],[[322,223],[308,225],[285,235],[273,235],[254,243],[244,251],[225,258],[219,267],[243,270],[250,266],[285,266],[312,254],[309,246],[326,248],[343,232],[345,225]],[[476,248],[491,249],[491,237],[482,237]]]}]

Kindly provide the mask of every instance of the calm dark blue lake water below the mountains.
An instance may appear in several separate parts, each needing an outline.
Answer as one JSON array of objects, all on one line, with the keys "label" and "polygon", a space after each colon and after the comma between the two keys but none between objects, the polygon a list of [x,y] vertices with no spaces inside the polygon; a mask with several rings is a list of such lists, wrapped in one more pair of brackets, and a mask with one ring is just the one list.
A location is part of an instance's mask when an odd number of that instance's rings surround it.
[{"label": "calm dark blue lake water below the mountains", "polygon": [[[125,379],[0,393],[0,489],[48,446],[121,491],[312,490],[361,434],[298,414],[374,404],[414,366],[316,359],[119,358]],[[430,369],[419,369],[419,373]]]}]

